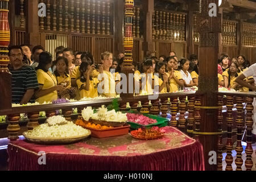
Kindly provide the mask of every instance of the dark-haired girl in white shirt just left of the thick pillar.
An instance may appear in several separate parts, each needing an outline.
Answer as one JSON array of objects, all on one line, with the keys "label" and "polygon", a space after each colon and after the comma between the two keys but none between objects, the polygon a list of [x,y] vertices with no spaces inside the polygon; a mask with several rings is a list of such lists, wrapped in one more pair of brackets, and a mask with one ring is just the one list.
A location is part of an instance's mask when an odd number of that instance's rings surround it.
[{"label": "dark-haired girl in white shirt just left of the thick pillar", "polygon": [[185,88],[197,86],[197,84],[193,82],[191,74],[188,72],[188,69],[189,69],[189,60],[181,59],[179,70],[180,70],[181,76],[183,77]]}]

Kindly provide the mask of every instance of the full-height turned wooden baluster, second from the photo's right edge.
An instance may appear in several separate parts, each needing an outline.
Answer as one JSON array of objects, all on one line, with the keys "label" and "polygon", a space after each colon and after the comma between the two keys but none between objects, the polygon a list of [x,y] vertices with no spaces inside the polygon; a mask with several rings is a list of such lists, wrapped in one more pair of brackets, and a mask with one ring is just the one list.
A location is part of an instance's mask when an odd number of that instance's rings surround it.
[{"label": "full-height turned wooden baluster, second from the photo's right edge", "polygon": [[236,97],[237,100],[237,146],[236,146],[236,152],[237,152],[237,158],[236,158],[236,165],[237,165],[237,171],[242,171],[242,126],[243,126],[243,118],[242,118],[242,110],[243,110],[243,98],[242,97]]}]

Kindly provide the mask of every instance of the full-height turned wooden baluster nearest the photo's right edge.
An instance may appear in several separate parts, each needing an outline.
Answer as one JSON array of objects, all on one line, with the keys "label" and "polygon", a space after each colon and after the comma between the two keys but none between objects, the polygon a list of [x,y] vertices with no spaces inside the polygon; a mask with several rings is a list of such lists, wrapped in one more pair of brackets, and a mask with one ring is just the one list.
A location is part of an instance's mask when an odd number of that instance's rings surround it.
[{"label": "full-height turned wooden baluster nearest the photo's right edge", "polygon": [[246,171],[251,171],[253,167],[253,161],[251,160],[251,154],[253,154],[253,147],[251,147],[251,130],[253,129],[253,98],[247,97],[246,98],[246,143],[247,146],[245,148],[246,153],[246,160],[245,160],[245,167]]}]

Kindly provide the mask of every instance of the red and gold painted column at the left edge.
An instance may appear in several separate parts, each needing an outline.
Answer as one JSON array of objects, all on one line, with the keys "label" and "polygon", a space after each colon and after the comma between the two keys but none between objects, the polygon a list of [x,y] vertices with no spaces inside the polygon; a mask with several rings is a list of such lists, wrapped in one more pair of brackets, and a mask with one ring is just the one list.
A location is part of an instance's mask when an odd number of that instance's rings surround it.
[{"label": "red and gold painted column at the left edge", "polygon": [[7,47],[10,43],[10,28],[8,22],[9,0],[0,1],[0,72],[7,72],[9,58]]}]

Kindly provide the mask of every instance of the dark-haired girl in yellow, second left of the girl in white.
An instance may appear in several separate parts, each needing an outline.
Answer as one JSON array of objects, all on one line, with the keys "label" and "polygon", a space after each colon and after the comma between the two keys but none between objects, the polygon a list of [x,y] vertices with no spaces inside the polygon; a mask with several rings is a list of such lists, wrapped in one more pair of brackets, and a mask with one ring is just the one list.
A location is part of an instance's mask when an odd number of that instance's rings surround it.
[{"label": "dark-haired girl in yellow, second left of the girl in white", "polygon": [[[168,93],[170,92],[170,85],[168,82],[168,74],[166,73],[166,64],[163,62],[160,62],[156,65],[156,71],[155,73],[159,74],[158,82],[159,82],[159,93]],[[155,77],[155,79],[157,79]]]}]

